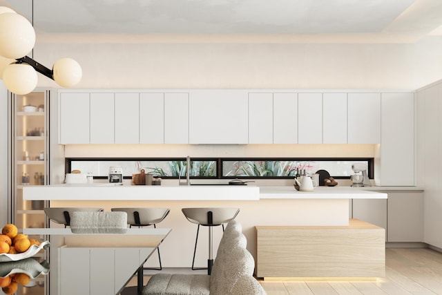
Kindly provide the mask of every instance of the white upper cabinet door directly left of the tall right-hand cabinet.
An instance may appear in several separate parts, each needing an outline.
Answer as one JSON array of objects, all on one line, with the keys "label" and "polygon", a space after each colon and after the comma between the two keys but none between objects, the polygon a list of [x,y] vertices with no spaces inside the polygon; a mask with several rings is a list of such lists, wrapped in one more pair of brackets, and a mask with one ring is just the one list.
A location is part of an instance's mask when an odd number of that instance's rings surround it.
[{"label": "white upper cabinet door directly left of the tall right-hand cabinet", "polygon": [[348,143],[381,143],[381,93],[348,94]]}]

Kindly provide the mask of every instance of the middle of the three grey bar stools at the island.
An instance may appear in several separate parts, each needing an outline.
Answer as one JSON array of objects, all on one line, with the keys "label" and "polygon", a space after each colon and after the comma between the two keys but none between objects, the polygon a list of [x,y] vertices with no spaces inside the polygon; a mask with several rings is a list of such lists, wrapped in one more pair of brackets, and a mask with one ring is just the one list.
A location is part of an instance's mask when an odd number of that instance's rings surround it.
[{"label": "middle of the three grey bar stools at the island", "polygon": [[[127,213],[127,223],[129,227],[148,227],[153,225],[156,229],[156,224],[162,222],[164,218],[171,211],[167,208],[112,208],[111,211],[123,211]],[[158,260],[160,261],[159,268],[148,268],[144,269],[157,269],[162,270],[160,247],[157,247]]]}]

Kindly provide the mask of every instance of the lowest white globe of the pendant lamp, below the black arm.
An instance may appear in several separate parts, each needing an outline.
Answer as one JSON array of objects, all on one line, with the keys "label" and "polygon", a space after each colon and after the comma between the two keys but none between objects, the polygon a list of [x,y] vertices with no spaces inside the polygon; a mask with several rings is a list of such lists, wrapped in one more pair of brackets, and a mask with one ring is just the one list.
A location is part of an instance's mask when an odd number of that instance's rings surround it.
[{"label": "lowest white globe of the pendant lamp, below the black arm", "polygon": [[10,64],[3,70],[3,82],[10,92],[25,95],[37,86],[37,72],[29,64]]}]

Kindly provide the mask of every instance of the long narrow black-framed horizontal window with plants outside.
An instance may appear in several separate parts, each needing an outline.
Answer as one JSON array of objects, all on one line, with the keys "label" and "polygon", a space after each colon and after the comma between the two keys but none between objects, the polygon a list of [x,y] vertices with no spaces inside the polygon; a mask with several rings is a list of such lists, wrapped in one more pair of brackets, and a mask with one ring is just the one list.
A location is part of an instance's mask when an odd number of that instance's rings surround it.
[{"label": "long narrow black-framed horizontal window with plants outside", "polygon": [[[151,173],[154,177],[179,178],[186,176],[186,158],[169,159],[66,159],[66,173],[79,170],[93,173],[94,178],[107,178],[111,166],[121,166],[124,178],[133,174]],[[327,171],[337,179],[354,174],[352,164],[367,166],[369,178],[374,177],[373,158],[192,158],[191,178],[294,178],[297,171],[307,174]]]}]

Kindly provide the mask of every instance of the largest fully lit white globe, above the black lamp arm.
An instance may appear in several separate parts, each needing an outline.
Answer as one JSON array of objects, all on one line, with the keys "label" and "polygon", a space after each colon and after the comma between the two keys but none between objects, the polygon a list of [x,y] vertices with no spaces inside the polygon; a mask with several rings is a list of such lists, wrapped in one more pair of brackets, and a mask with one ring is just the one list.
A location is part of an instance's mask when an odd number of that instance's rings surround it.
[{"label": "largest fully lit white globe, above the black lamp arm", "polygon": [[2,13],[0,28],[0,55],[17,59],[30,53],[35,45],[35,30],[26,17]]}]

